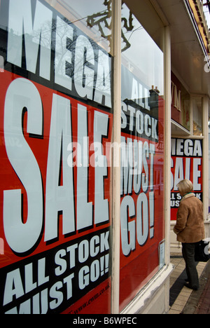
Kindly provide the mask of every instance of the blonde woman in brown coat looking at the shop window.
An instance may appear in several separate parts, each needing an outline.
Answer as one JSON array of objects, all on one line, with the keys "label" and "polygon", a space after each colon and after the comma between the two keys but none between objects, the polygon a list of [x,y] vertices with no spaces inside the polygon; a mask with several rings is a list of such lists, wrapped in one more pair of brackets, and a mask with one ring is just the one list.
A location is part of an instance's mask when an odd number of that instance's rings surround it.
[{"label": "blonde woman in brown coat looking at the shop window", "polygon": [[174,233],[177,240],[182,242],[183,258],[186,262],[188,283],[186,287],[197,290],[199,279],[195,265],[195,245],[205,238],[203,204],[193,193],[193,184],[190,180],[182,180],[177,184],[183,197],[177,212]]}]

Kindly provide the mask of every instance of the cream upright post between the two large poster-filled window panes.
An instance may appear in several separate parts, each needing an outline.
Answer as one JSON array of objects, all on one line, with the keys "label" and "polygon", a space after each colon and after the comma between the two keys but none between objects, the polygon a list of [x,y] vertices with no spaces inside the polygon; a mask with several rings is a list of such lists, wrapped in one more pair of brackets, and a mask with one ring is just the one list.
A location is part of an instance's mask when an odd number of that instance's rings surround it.
[{"label": "cream upright post between the two large poster-filled window panes", "polygon": [[120,294],[120,135],[121,135],[121,0],[113,0],[113,240],[111,313],[119,313]]}]

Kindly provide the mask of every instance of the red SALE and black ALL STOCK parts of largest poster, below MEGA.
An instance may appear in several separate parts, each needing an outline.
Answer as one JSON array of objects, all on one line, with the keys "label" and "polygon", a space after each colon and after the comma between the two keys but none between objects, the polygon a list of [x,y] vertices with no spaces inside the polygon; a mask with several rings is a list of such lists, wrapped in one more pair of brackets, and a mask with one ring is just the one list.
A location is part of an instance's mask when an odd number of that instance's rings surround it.
[{"label": "red SALE and black ALL STOCK parts of largest poster, below MEGA", "polygon": [[[108,304],[110,168],[104,179],[101,168],[89,165],[89,159],[96,164],[94,138],[103,139],[104,149],[106,142],[111,142],[108,125],[112,126],[112,115],[7,71],[0,78],[0,108],[4,109],[1,310],[20,313],[22,308],[30,312],[31,306],[33,311],[44,306],[49,313],[64,308],[63,303],[70,306],[78,299],[79,304],[85,303],[87,297],[91,299],[87,291],[97,285],[93,294],[104,290],[103,299]],[[103,137],[104,132],[97,130],[102,124],[107,133]],[[81,132],[84,125],[87,129]],[[68,135],[65,128],[69,127],[72,131]],[[73,147],[78,145],[79,131],[80,137],[88,137],[90,142],[88,150],[82,146],[82,159],[88,160],[86,168],[85,163],[80,167],[74,162],[78,160],[78,149]],[[99,152],[98,160],[100,157],[104,159]],[[104,206],[104,217],[96,202]],[[103,280],[106,282],[101,285]],[[44,303],[39,303],[39,297]],[[88,303],[88,311],[98,310],[95,303]]]}]

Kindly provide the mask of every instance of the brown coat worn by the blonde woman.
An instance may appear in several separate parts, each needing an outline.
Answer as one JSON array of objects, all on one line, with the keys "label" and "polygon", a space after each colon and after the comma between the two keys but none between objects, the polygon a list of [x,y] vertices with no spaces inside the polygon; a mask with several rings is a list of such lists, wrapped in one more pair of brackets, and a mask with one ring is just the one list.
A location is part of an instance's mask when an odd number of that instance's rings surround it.
[{"label": "brown coat worn by the blonde woman", "polygon": [[174,233],[179,242],[199,242],[205,238],[203,203],[194,193],[184,196],[181,200]]}]

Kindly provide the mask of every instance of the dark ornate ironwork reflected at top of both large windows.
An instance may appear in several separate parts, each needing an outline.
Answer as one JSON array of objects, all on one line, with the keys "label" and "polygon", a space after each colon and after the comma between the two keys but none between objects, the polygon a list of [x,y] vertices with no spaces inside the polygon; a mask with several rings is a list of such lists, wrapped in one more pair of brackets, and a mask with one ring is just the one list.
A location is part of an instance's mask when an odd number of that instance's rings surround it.
[{"label": "dark ornate ironwork reflected at top of both large windows", "polygon": [[[111,43],[111,35],[112,35],[112,8],[111,8],[112,0],[104,0],[104,6],[107,7],[106,10],[101,11],[99,13],[95,13],[93,15],[87,16],[87,26],[88,27],[94,27],[97,26],[99,28],[99,32],[101,33],[102,37],[104,39],[107,39],[109,43]],[[123,6],[123,5],[122,5]],[[126,39],[125,33],[123,32],[123,29],[126,30],[126,32],[131,32],[134,29],[134,26],[132,25],[133,18],[132,18],[132,12],[130,11],[130,17],[127,20],[127,18],[122,18],[123,26],[122,26],[122,39],[125,43],[125,47],[122,49],[122,52],[130,48],[130,42]],[[109,33],[105,32],[105,28],[109,30]]]}]

